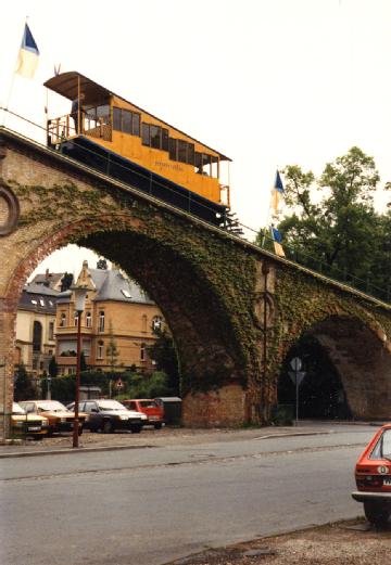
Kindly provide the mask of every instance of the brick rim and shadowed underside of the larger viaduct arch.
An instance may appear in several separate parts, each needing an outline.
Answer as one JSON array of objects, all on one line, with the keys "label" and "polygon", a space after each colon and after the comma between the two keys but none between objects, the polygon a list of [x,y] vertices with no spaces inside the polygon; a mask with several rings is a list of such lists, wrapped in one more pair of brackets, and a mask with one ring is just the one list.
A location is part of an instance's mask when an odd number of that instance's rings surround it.
[{"label": "brick rim and shadowed underside of the larger viaduct arch", "polygon": [[[247,352],[237,333],[231,281],[223,270],[217,273],[212,269],[211,277],[211,262],[203,265],[202,257],[206,260],[210,249],[203,244],[198,246],[197,239],[188,245],[177,245],[173,244],[175,233],[169,241],[156,237],[147,228],[131,214],[114,213],[54,226],[49,236],[46,231],[26,247],[9,279],[4,303],[10,323],[23,285],[35,267],[54,249],[78,243],[119,265],[159,304],[177,346],[185,396],[235,385],[235,394],[243,405]],[[249,310],[250,318],[251,314]],[[191,410],[197,411],[197,405]],[[215,423],[230,424],[230,418],[218,415]],[[237,418],[238,422],[243,421],[243,412],[238,412]]]}]

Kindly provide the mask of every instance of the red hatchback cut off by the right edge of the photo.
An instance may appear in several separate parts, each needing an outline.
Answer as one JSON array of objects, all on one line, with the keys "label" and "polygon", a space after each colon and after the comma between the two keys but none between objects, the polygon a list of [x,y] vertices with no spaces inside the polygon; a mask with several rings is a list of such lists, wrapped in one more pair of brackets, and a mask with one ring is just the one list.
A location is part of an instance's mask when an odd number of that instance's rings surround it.
[{"label": "red hatchback cut off by the right edge of the photo", "polygon": [[354,500],[364,502],[366,518],[384,525],[391,514],[391,424],[380,427],[355,466]]}]

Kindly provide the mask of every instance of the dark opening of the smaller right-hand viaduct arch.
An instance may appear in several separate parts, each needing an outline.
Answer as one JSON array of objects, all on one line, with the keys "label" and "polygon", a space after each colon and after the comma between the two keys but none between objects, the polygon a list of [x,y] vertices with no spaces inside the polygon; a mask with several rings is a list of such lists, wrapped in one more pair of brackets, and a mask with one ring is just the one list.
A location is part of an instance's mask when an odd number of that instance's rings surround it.
[{"label": "dark opening of the smaller right-hand viaduct arch", "polygon": [[311,334],[304,334],[294,344],[281,368],[278,380],[278,403],[290,407],[295,413],[297,387],[292,360],[299,358],[304,373],[299,386],[299,419],[350,420],[346,394],[341,376],[327,350]]}]

